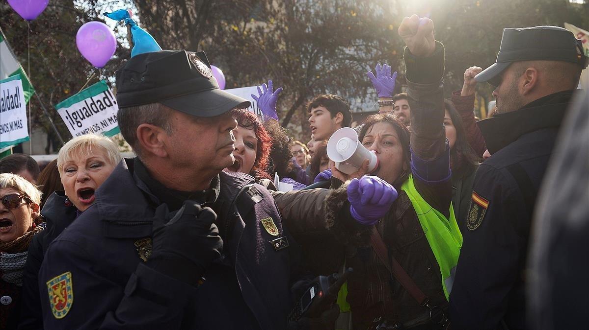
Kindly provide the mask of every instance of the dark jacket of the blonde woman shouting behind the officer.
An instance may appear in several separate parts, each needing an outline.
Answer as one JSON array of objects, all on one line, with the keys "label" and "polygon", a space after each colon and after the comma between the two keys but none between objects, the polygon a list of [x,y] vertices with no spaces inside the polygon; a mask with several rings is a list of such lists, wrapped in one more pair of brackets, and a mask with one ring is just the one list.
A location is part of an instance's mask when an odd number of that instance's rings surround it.
[{"label": "dark jacket of the blonde woman shouting behind the officer", "polygon": [[47,198],[41,210],[47,228],[35,235],[29,245],[27,264],[22,277],[19,330],[43,328],[38,275],[49,244],[77,217],[77,209],[66,200],[67,197],[63,191],[55,191]]}]

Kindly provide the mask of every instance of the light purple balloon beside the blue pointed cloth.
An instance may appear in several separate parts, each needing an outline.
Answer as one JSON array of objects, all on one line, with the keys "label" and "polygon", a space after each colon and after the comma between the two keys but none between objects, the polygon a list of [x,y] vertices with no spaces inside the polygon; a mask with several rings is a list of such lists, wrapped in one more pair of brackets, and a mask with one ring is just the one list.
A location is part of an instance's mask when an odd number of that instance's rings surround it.
[{"label": "light purple balloon beside the blue pointed cloth", "polygon": [[82,56],[97,68],[102,68],[117,50],[117,38],[102,22],[88,22],[80,26],[75,44]]}]

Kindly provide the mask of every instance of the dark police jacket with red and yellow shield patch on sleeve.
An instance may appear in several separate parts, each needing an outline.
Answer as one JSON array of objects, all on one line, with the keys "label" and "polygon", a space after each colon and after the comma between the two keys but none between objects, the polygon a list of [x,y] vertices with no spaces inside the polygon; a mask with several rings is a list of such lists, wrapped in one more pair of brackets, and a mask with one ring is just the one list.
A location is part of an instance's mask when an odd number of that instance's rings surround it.
[{"label": "dark police jacket with red and yellow shield patch on sleeve", "polygon": [[[290,311],[292,242],[272,196],[243,173],[220,173],[223,257],[198,288],[145,265],[154,196],[123,160],[96,202],[47,250],[39,272],[46,329],[283,329]],[[131,168],[131,170],[130,170]],[[271,235],[266,225],[273,223]],[[228,220],[228,221],[226,221]],[[272,231],[272,230],[270,230]],[[283,238],[280,248],[272,243]],[[49,294],[51,292],[51,294]]]}]

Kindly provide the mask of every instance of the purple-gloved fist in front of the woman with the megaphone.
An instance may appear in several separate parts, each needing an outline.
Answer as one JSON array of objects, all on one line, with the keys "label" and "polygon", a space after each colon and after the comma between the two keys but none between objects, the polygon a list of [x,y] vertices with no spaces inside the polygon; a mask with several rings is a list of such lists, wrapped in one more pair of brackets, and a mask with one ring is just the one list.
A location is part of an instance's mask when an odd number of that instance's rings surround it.
[{"label": "purple-gloved fist in front of the woman with the megaphone", "polygon": [[385,216],[397,199],[391,184],[375,176],[353,179],[348,185],[350,213],[361,224],[373,225]]}]

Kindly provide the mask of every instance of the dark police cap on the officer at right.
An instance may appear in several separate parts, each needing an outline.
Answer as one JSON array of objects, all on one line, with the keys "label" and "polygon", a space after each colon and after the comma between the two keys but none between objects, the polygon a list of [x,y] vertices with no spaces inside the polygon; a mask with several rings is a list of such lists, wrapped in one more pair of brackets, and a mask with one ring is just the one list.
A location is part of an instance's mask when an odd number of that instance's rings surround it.
[{"label": "dark police cap on the officer at right", "polygon": [[571,62],[583,69],[589,63],[589,58],[583,54],[583,43],[567,29],[558,26],[505,28],[497,61],[475,76],[475,80],[498,86],[501,83],[501,72],[511,63],[522,60]]}]

